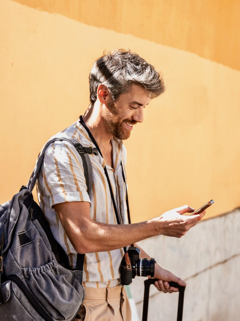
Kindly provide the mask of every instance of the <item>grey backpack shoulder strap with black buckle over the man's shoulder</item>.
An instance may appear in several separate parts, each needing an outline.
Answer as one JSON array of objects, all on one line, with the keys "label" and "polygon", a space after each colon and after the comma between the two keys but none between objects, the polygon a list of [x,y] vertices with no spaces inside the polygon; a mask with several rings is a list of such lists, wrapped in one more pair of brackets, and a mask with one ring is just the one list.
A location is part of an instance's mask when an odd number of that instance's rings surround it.
[{"label": "grey backpack shoulder strap with black buckle over the man's shoulder", "polygon": [[84,176],[86,179],[87,192],[88,192],[88,194],[90,194],[91,189],[92,189],[93,175],[92,175],[92,164],[91,164],[88,154],[98,155],[98,150],[97,150],[97,148],[84,147],[76,139],[73,139],[71,137],[67,137],[64,135],[59,136],[59,137],[53,137],[44,145],[42,151],[40,152],[40,154],[38,156],[36,166],[32,172],[32,175],[28,181],[28,184],[27,184],[28,190],[30,192],[32,192],[32,190],[36,184],[37,176],[38,176],[39,171],[41,170],[46,149],[48,148],[48,146],[51,143],[56,142],[56,141],[66,141],[66,142],[72,144],[76,148],[77,152],[79,153],[79,155],[81,156],[82,161],[83,161]]}]

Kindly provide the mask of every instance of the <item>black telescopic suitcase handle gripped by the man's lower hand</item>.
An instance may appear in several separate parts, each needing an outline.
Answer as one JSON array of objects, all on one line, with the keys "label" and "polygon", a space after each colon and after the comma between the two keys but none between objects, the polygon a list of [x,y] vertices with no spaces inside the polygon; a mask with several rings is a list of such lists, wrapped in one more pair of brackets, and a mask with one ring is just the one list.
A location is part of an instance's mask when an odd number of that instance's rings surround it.
[{"label": "black telescopic suitcase handle gripped by the man's lower hand", "polygon": [[[154,284],[156,281],[158,281],[158,279],[147,279],[144,281],[144,299],[143,299],[142,321],[148,320],[149,288],[150,288],[150,285]],[[186,289],[186,286],[179,285],[176,282],[169,282],[169,285],[170,285],[170,287],[174,287],[174,288],[179,289],[177,321],[182,321],[184,291]]]}]

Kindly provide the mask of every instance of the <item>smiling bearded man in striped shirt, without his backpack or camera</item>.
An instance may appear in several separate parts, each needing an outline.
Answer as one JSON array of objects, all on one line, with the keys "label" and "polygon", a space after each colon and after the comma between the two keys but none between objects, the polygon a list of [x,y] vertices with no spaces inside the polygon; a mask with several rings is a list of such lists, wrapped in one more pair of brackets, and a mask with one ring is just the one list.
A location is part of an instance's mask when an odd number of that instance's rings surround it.
[{"label": "smiling bearded man in striped shirt, without his backpack or camera", "polygon": [[[194,211],[185,205],[153,220],[128,224],[123,179],[126,150],[122,140],[129,138],[134,125],[143,121],[145,106],[164,91],[164,83],[152,65],[123,49],[97,59],[89,82],[90,106],[80,121],[63,132],[83,146],[98,145],[100,149],[98,155],[90,155],[92,192],[87,193],[82,160],[74,147],[55,142],[45,153],[37,182],[38,197],[53,235],[68,254],[72,267],[76,265],[77,253],[86,253],[83,276],[86,295],[76,320],[130,321],[129,302],[124,287],[119,285],[123,247],[159,234],[180,238],[205,212],[182,216]],[[140,257],[149,259],[142,249]],[[154,277],[159,279],[156,288],[165,293],[178,291],[169,287],[168,281],[186,285],[157,264]]]}]

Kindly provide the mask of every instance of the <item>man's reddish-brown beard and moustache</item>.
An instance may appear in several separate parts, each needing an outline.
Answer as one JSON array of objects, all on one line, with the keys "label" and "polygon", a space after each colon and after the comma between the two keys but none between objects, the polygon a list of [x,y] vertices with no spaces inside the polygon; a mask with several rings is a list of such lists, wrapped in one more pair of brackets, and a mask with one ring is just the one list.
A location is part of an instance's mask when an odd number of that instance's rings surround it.
[{"label": "man's reddish-brown beard and moustache", "polygon": [[113,136],[117,137],[118,139],[125,140],[128,139],[131,135],[131,130],[124,128],[123,122],[127,121],[128,123],[135,125],[137,121],[133,121],[132,119],[124,119],[122,120],[121,115],[119,114],[116,104],[114,102],[111,105],[108,105],[107,114],[105,115],[104,119],[107,123],[108,129],[113,134]]}]

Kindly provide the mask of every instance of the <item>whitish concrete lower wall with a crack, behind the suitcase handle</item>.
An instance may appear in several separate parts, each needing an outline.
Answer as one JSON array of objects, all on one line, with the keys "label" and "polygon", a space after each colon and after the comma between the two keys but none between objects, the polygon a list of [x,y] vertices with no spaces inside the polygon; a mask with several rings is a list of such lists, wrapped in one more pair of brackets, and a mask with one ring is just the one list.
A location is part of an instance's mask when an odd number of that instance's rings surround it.
[{"label": "whitish concrete lower wall with a crack, behind the suitcase handle", "polygon": [[[184,321],[239,320],[240,211],[200,222],[185,237],[153,237],[139,242],[164,268],[187,282]],[[142,315],[145,278],[136,277],[131,292]],[[148,319],[177,318],[178,294],[150,287]],[[141,318],[140,318],[141,319]]]}]

